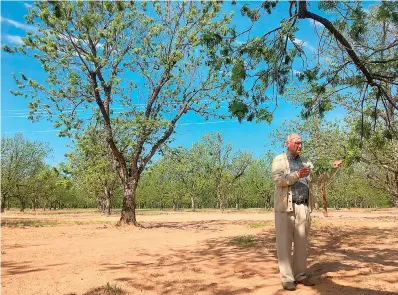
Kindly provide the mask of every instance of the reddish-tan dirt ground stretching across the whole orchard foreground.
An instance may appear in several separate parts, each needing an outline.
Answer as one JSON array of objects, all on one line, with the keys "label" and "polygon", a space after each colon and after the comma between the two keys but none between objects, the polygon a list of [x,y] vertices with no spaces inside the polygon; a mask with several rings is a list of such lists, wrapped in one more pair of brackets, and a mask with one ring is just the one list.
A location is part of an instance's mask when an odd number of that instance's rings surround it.
[{"label": "reddish-tan dirt ground stretching across the whole orchard foreground", "polygon": [[9,211],[1,294],[398,294],[398,210],[329,215],[312,215],[317,285],[289,292],[272,212],[145,212],[136,228],[115,227],[116,213]]}]

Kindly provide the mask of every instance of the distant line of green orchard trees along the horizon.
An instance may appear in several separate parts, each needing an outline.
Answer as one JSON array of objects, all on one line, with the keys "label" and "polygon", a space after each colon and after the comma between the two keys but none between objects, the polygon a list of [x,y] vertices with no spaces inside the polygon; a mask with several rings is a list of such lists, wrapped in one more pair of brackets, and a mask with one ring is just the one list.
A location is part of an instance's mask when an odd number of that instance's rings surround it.
[{"label": "distant line of green orchard trees along the horizon", "polygon": [[[121,208],[123,188],[112,161],[104,146],[102,154],[99,145],[94,147],[82,140],[68,162],[50,167],[44,161],[50,153],[44,143],[20,134],[3,138],[2,210],[98,207],[109,213]],[[165,150],[140,180],[137,209],[271,209],[272,157],[268,153],[255,159],[235,151],[219,133],[206,135],[191,149]],[[391,197],[367,173],[360,163],[341,169],[326,186],[328,207],[391,207]],[[321,206],[319,197],[318,203]]]}]

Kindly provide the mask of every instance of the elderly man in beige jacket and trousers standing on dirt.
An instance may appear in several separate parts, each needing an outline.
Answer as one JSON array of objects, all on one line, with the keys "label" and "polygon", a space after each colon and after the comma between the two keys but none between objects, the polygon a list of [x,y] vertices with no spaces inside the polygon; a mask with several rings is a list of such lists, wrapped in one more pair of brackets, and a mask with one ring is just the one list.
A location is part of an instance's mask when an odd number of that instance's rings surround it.
[{"label": "elderly man in beige jacket and trousers standing on dirt", "polygon": [[[310,213],[315,201],[312,195],[311,162],[300,156],[303,143],[300,135],[286,139],[287,152],[272,161],[275,182],[275,230],[279,271],[285,290],[296,290],[296,284],[313,286],[307,276],[307,239],[311,225]],[[339,168],[342,161],[333,162]],[[322,177],[326,181],[335,171]],[[292,257],[293,242],[293,257]]]}]

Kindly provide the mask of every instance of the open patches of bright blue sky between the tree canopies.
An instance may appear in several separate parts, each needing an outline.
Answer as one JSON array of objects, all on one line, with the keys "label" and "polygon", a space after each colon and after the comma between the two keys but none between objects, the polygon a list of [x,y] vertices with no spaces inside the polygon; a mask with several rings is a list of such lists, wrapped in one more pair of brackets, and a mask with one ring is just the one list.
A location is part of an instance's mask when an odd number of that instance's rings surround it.
[{"label": "open patches of bright blue sky between the tree canopies", "polygon": [[[26,25],[24,15],[32,2],[1,2],[1,44],[16,45],[21,42],[20,37],[25,35],[27,30],[34,31],[35,27]],[[242,2],[235,6],[234,22],[237,28],[245,25],[245,21],[240,16],[239,8]],[[311,3],[312,9],[316,9],[317,3]],[[233,8],[233,6],[230,6]],[[278,25],[278,20],[288,17],[286,10],[287,3],[280,3],[276,11],[267,17],[266,25],[274,28]],[[264,27],[260,28],[264,30]],[[314,25],[308,20],[302,20],[300,30],[296,38],[305,41],[306,52],[311,57],[311,52],[317,44],[317,37],[314,33]],[[21,55],[10,55],[1,52],[1,136],[11,137],[17,132],[22,132],[23,136],[30,140],[40,140],[48,142],[53,150],[52,158],[48,163],[56,165],[64,160],[64,154],[70,150],[68,145],[71,140],[57,136],[57,130],[51,122],[40,121],[32,123],[27,119],[28,100],[13,96],[9,90],[16,89],[11,73],[24,72],[28,77],[35,77],[44,80],[44,73],[36,60]],[[300,109],[279,99],[278,108],[274,113],[273,122],[267,123],[238,123],[236,119],[221,121],[217,119],[204,122],[200,118],[187,117],[183,120],[186,124],[181,124],[177,129],[177,139],[172,146],[182,145],[190,147],[192,143],[209,132],[222,132],[225,142],[230,142],[234,149],[241,149],[252,152],[254,156],[262,156],[268,149],[281,152],[282,146],[271,147],[269,134],[280,127],[284,120],[294,120],[298,118]],[[341,109],[332,111],[327,118],[342,118],[344,113]]]}]

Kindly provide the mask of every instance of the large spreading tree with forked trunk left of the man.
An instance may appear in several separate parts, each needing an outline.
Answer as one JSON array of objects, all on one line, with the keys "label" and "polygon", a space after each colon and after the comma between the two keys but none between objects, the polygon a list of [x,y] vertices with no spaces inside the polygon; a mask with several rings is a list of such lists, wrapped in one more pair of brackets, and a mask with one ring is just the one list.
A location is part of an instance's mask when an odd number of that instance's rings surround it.
[{"label": "large spreading tree with forked trunk left of the man", "polygon": [[[32,119],[49,115],[63,135],[84,130],[80,109],[95,110],[123,185],[119,224],[137,225],[136,190],[153,155],[187,112],[214,114],[224,74],[206,69],[202,38],[227,29],[219,2],[37,2],[20,48],[47,81],[21,74],[15,95],[29,97]],[[56,110],[56,111],[55,111]],[[129,142],[118,134],[128,133]],[[124,136],[123,138],[127,138]]]}]

